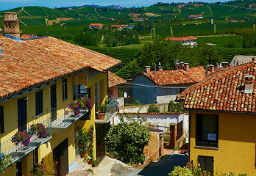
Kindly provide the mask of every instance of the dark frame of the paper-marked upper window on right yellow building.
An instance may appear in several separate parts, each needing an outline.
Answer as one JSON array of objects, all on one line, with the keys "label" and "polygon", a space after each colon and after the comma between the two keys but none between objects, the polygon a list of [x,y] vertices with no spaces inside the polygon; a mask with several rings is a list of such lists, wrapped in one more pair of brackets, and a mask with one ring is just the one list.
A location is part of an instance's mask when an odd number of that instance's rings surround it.
[{"label": "dark frame of the paper-marked upper window on right yellow building", "polygon": [[[216,116],[216,140],[203,139],[202,131],[202,119],[203,115],[215,115]],[[213,147],[218,149],[218,114],[196,114],[196,147]]]}]

